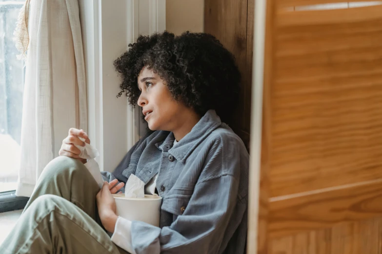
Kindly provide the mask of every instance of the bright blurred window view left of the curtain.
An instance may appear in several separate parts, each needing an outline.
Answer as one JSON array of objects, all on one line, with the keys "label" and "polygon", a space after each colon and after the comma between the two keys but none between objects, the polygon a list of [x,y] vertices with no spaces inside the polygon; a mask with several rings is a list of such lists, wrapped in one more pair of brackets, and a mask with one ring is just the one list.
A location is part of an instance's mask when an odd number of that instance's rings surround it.
[{"label": "bright blurred window view left of the curtain", "polygon": [[24,0],[0,0],[0,192],[15,190],[20,165],[24,61],[13,32]]}]

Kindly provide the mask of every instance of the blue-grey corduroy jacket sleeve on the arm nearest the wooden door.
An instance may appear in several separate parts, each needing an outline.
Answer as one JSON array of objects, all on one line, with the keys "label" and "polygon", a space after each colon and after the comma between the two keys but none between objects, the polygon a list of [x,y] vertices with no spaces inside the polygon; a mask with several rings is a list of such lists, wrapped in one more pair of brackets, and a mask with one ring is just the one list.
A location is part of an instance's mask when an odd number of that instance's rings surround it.
[{"label": "blue-grey corduroy jacket sleeve on the arm nearest the wooden door", "polygon": [[179,207],[182,213],[170,226],[159,228],[132,221],[131,245],[137,254],[219,252],[237,202],[240,178],[237,150],[220,146],[207,157],[187,206]]}]

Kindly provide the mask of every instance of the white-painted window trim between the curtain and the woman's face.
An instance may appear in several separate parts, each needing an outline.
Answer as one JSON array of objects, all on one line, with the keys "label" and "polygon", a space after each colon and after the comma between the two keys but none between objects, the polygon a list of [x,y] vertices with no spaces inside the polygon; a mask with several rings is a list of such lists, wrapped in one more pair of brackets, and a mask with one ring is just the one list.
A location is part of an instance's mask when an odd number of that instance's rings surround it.
[{"label": "white-painted window trim between the curtain and the woman's face", "polygon": [[[146,4],[145,4],[146,3]],[[139,34],[165,30],[165,0],[79,0],[88,99],[88,134],[100,151],[101,170],[112,171],[140,137],[140,111],[124,95],[113,61]],[[147,7],[154,16],[147,22]],[[140,13],[142,15],[140,15]]]}]

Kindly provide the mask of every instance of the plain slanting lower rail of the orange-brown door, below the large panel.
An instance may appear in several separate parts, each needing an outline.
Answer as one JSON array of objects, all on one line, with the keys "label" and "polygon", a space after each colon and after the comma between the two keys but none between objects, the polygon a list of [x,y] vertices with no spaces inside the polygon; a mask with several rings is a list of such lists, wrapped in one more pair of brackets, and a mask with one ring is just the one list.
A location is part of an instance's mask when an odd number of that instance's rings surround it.
[{"label": "plain slanting lower rail of the orange-brown door, below the large panel", "polygon": [[378,217],[382,215],[381,204],[382,179],[271,199],[268,234],[279,237],[343,221]]}]

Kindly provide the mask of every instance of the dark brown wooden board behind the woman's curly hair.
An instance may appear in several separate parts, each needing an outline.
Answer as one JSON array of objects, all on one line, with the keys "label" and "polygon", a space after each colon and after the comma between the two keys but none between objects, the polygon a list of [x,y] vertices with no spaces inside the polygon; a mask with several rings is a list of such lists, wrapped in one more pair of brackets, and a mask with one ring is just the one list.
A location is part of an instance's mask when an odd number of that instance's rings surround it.
[{"label": "dark brown wooden board behind the woman's curly hair", "polygon": [[241,72],[240,102],[228,123],[249,149],[254,0],[205,0],[204,32],[216,36],[235,57]]}]

